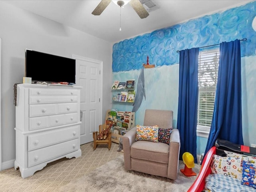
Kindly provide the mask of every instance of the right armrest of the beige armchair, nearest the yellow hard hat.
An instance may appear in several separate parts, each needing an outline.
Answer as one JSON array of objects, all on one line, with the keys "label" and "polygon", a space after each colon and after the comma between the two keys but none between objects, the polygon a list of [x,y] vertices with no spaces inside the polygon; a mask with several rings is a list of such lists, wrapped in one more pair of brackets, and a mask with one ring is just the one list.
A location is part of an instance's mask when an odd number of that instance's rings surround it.
[{"label": "right armrest of the beige armchair, nearest the yellow hard hat", "polygon": [[168,178],[176,179],[179,167],[180,156],[180,132],[173,129],[170,136],[169,145],[169,162],[168,162]]}]

